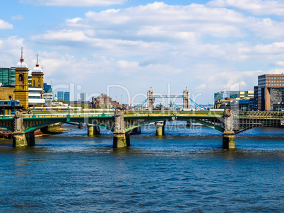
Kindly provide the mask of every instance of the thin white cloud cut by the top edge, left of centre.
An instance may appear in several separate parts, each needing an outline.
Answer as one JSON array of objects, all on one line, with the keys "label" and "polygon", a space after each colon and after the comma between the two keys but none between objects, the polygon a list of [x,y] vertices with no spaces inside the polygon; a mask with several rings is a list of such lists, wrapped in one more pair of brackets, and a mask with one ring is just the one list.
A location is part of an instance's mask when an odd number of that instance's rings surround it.
[{"label": "thin white cloud cut by the top edge, left of centre", "polygon": [[124,2],[126,0],[20,0],[20,3],[35,6],[107,6]]}]

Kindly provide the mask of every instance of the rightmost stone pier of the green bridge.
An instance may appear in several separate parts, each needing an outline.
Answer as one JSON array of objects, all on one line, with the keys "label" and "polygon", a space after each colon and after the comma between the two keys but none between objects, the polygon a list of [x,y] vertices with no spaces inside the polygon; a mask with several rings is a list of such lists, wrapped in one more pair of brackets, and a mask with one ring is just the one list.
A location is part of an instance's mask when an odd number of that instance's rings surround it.
[{"label": "rightmost stone pier of the green bridge", "polygon": [[224,111],[225,129],[223,132],[223,149],[235,149],[235,132],[233,125],[233,112],[229,109]]}]

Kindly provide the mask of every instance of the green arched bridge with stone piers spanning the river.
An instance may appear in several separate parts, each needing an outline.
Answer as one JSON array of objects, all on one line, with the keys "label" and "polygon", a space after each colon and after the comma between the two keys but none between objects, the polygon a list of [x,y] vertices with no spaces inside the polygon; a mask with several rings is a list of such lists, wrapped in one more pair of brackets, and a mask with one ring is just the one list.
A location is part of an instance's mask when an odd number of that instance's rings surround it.
[{"label": "green arched bridge with stone piers spanning the river", "polygon": [[[156,134],[164,134],[165,122],[182,120],[198,122],[223,132],[223,148],[235,148],[235,134],[254,127],[280,127],[284,125],[283,112],[241,112],[226,109],[224,112],[211,111],[169,111],[169,112],[128,112],[118,108],[115,113],[62,113],[0,116],[0,127],[13,132],[13,146],[35,145],[37,129],[55,123],[78,122],[88,126],[88,135],[100,134],[100,127],[113,132],[113,147],[130,146],[129,133],[143,125],[155,123]],[[133,131],[133,130],[132,130]]]}]

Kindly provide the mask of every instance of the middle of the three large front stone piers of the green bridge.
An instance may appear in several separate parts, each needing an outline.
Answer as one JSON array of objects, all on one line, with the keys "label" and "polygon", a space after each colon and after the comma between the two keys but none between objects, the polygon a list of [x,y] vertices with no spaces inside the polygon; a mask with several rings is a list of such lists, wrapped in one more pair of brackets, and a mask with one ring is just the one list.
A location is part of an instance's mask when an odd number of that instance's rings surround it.
[{"label": "middle of the three large front stone piers of the green bridge", "polygon": [[130,146],[129,133],[124,132],[124,111],[117,108],[114,113],[113,148]]}]

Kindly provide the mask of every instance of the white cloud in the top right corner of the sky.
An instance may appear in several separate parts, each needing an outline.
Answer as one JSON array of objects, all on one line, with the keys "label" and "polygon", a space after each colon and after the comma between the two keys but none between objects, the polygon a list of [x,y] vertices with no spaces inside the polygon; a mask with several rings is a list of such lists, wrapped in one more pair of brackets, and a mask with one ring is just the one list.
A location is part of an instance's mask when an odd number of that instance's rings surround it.
[{"label": "white cloud in the top right corner of the sky", "polygon": [[256,15],[284,15],[284,1],[263,1],[263,0],[214,0],[208,3],[209,6],[235,7],[250,11]]}]

